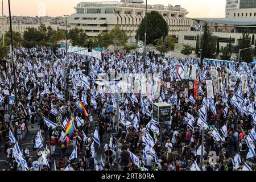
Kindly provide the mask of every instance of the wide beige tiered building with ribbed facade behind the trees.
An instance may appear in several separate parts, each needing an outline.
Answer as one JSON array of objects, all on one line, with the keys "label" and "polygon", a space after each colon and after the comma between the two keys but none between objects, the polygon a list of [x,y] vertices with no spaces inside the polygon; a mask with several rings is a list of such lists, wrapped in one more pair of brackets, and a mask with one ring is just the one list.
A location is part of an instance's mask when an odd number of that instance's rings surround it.
[{"label": "wide beige tiered building with ribbed facade behind the trees", "polygon": [[[121,0],[121,2],[81,2],[76,13],[68,17],[71,28],[82,28],[88,36],[97,37],[100,32],[112,30],[119,26],[125,30],[130,41],[134,37],[146,14],[146,5],[142,0]],[[179,31],[190,30],[192,20],[186,18],[187,10],[179,5],[147,5],[147,12],[158,11],[169,26],[169,35],[177,35]]]}]

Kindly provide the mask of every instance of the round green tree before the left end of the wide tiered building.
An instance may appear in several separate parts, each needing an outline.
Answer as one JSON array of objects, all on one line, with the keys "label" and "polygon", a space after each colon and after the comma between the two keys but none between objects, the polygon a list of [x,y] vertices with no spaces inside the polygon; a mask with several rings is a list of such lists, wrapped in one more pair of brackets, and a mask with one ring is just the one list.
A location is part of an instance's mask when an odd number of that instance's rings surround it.
[{"label": "round green tree before the left end of the wide tiered building", "polygon": [[73,28],[68,32],[68,39],[70,39],[72,46],[87,47],[86,41],[88,36],[85,30]]}]

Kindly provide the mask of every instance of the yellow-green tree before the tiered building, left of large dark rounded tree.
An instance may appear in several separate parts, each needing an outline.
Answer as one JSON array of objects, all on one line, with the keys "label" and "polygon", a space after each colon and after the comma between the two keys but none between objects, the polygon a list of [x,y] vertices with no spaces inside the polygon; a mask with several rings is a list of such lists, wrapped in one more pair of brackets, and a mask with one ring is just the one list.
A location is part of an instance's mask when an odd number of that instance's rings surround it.
[{"label": "yellow-green tree before the tiered building, left of large dark rounded tree", "polygon": [[113,30],[109,32],[110,43],[114,46],[114,49],[117,51],[121,46],[125,46],[127,43],[126,32],[121,30],[118,26],[115,26]]}]

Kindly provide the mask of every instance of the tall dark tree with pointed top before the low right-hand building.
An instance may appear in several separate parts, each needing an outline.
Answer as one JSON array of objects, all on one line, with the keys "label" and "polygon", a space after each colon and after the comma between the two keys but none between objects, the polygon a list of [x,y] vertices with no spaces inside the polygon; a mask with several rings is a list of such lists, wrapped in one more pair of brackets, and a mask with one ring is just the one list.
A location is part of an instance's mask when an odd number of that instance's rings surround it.
[{"label": "tall dark tree with pointed top before the low right-hand building", "polygon": [[214,58],[216,51],[217,38],[209,31],[208,24],[205,23],[204,34],[201,36],[200,47],[202,58]]}]

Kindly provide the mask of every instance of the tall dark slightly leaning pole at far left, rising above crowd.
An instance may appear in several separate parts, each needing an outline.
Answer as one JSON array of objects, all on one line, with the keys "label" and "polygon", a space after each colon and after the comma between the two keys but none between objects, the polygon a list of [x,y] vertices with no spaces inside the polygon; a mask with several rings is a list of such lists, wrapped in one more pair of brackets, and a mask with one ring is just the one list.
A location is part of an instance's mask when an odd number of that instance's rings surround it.
[{"label": "tall dark slightly leaning pole at far left, rising above crowd", "polygon": [[10,5],[10,0],[8,0],[8,5],[9,5],[10,34],[11,34],[11,64],[13,66],[15,104],[16,104],[16,110],[17,110],[17,113],[18,113],[18,96],[17,96],[17,88],[16,88],[16,69],[15,69],[15,63],[14,63],[13,26],[11,24],[11,5]]}]

